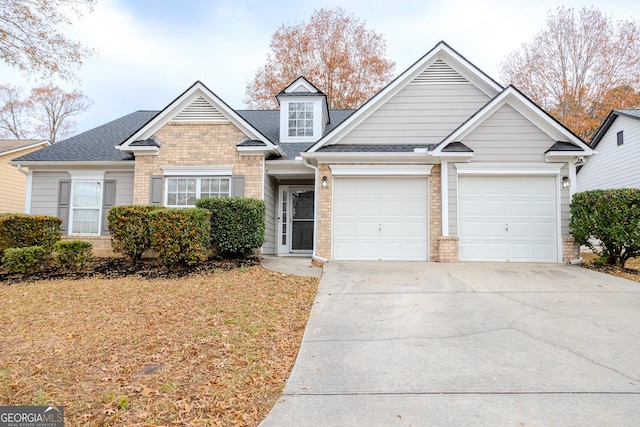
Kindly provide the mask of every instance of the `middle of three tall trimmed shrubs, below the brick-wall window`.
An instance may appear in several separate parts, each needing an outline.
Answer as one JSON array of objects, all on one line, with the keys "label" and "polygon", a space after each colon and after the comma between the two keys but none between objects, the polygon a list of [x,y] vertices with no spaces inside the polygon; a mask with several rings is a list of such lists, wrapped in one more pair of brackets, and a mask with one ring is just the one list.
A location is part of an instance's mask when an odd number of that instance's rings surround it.
[{"label": "middle of three tall trimmed shrubs, below the brick-wall window", "polygon": [[210,213],[206,209],[161,209],[149,214],[151,247],[165,265],[197,264],[209,256]]}]

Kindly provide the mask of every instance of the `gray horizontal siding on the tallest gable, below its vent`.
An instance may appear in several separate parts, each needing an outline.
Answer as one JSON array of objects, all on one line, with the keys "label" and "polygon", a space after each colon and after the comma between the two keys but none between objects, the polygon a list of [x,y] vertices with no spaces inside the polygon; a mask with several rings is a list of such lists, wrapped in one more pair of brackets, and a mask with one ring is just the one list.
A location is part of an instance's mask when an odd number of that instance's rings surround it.
[{"label": "gray horizontal siding on the tallest gable, below its vent", "polygon": [[436,144],[488,101],[469,82],[411,83],[340,144]]}]

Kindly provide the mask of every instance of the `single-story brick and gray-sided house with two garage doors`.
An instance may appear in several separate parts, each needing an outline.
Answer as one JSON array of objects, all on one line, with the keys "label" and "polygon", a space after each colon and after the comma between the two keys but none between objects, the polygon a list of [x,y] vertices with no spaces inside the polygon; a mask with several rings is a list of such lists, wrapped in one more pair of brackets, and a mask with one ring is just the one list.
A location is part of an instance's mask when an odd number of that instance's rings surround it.
[{"label": "single-story brick and gray-sided house with two garage doors", "polygon": [[591,148],[514,87],[437,44],[356,111],[299,78],[279,111],[230,108],[196,82],[19,157],[31,212],[108,233],[120,204],[266,203],[265,255],[320,260],[562,262],[575,163]]}]

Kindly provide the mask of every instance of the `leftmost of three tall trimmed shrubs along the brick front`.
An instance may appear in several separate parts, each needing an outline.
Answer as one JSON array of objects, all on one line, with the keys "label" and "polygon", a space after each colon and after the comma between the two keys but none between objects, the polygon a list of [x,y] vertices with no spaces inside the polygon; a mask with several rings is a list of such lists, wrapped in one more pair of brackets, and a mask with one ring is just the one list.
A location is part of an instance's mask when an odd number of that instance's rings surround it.
[{"label": "leftmost of three tall trimmed shrubs along the brick front", "polygon": [[117,253],[137,262],[151,248],[149,213],[159,206],[114,206],[107,221],[111,233],[111,246]]}]

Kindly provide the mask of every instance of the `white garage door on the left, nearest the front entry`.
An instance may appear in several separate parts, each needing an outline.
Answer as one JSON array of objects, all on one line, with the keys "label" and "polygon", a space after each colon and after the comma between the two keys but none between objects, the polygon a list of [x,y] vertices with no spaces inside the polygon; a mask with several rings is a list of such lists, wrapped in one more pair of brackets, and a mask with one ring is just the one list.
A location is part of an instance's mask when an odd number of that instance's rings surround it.
[{"label": "white garage door on the left, nearest the front entry", "polygon": [[427,178],[336,178],[336,260],[427,260]]}]

